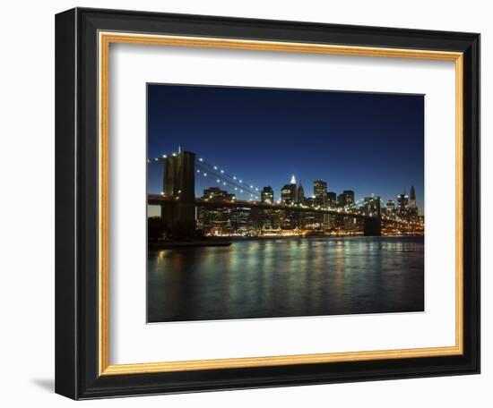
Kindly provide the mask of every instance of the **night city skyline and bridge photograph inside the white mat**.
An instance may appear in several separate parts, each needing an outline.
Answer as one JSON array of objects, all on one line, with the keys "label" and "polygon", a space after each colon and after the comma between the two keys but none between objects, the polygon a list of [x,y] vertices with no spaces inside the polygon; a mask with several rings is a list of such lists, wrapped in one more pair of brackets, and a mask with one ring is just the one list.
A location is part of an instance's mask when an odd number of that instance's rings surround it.
[{"label": "night city skyline and bridge photograph inside the white mat", "polygon": [[422,312],[425,96],[147,84],[147,322]]}]

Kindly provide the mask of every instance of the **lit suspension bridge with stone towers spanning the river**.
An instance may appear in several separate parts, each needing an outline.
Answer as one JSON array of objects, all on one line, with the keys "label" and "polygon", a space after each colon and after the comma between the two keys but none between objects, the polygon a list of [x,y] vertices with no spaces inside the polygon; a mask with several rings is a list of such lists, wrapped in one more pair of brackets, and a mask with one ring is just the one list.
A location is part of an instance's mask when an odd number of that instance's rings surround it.
[{"label": "lit suspension bridge with stone towers spanning the river", "polygon": [[[188,240],[195,237],[196,208],[250,208],[260,211],[281,210],[291,215],[329,215],[350,218],[363,225],[365,236],[380,236],[385,225],[406,227],[409,220],[383,215],[380,199],[368,202],[361,207],[362,200],[350,202],[344,206],[328,204],[307,206],[299,202],[265,202],[260,200],[259,187],[247,183],[235,175],[229,174],[218,166],[211,165],[197,157],[194,152],[180,151],[154,157],[148,162],[163,166],[163,186],[161,194],[148,194],[147,202],[152,206],[160,206],[160,217],[163,225],[174,236]],[[228,199],[210,199],[195,197],[195,179],[203,177],[212,179],[225,190],[231,192]],[[238,196],[245,200],[238,200]]]}]

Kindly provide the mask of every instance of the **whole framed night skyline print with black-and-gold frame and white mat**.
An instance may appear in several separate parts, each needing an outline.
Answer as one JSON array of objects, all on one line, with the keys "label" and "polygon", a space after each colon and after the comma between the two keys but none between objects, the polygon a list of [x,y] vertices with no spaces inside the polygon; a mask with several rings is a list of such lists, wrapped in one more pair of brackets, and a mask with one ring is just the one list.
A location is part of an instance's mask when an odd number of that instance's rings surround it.
[{"label": "whole framed night skyline print with black-and-gold frame and white mat", "polygon": [[480,372],[480,36],[56,15],[56,392]]}]

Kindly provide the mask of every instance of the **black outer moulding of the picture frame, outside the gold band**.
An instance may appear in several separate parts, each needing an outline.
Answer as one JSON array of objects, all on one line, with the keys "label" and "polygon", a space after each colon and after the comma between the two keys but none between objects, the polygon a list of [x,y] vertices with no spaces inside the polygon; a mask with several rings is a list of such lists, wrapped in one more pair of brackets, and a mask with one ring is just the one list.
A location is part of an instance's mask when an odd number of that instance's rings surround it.
[{"label": "black outer moulding of the picture frame, outside the gold band", "polygon": [[[99,30],[463,52],[463,355],[99,377]],[[479,34],[86,8],[56,15],[56,393],[88,399],[479,372]]]}]

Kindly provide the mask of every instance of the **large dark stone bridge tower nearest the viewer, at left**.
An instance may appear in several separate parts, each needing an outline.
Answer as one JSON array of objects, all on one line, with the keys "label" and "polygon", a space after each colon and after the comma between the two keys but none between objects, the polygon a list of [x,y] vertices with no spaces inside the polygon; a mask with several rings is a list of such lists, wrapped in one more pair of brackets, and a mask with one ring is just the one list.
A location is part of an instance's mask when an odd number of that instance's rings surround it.
[{"label": "large dark stone bridge tower nearest the viewer, at left", "polygon": [[163,191],[173,199],[161,205],[161,218],[175,240],[195,237],[195,153],[180,151],[166,158]]}]

